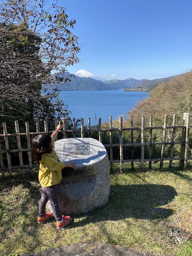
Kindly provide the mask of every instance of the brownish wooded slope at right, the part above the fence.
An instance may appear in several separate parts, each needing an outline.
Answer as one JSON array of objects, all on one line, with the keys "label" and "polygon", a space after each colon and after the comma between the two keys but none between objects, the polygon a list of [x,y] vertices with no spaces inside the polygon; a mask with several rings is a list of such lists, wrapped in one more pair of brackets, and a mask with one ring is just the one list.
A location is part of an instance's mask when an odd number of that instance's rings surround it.
[{"label": "brownish wooded slope at right, the part above the fence", "polygon": [[176,76],[168,82],[158,84],[148,98],[138,102],[138,105],[128,112],[134,118],[141,119],[141,115],[163,117],[165,114],[183,117],[183,113],[192,112],[192,71]]}]

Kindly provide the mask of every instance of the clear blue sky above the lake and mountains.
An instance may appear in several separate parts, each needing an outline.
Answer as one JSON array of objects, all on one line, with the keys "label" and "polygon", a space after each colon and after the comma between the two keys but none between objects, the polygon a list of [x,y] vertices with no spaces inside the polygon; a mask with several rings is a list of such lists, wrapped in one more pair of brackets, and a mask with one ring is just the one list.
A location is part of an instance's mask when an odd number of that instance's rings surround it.
[{"label": "clear blue sky above the lake and mountains", "polygon": [[192,1],[61,1],[81,49],[69,67],[110,79],[156,79],[192,68]]}]

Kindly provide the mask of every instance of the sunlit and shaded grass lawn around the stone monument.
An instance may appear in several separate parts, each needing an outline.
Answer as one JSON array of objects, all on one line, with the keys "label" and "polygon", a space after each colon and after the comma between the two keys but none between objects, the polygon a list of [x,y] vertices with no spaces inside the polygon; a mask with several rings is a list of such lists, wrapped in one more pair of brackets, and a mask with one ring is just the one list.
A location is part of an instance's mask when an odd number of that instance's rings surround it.
[{"label": "sunlit and shaded grass lawn around the stone monument", "polygon": [[[38,169],[34,178],[29,172],[21,177],[19,171],[0,177],[0,256],[16,256],[50,248],[89,241],[129,247],[162,255],[192,254],[191,205],[192,172],[179,170],[175,164],[164,171],[140,172],[139,165],[124,164],[124,174],[119,174],[119,164],[114,164],[111,174],[109,202],[89,215],[72,216],[64,230],[56,228],[51,217],[37,224],[41,186]],[[25,180],[24,180],[25,179]],[[172,227],[183,235],[181,243],[169,236]]]}]

